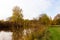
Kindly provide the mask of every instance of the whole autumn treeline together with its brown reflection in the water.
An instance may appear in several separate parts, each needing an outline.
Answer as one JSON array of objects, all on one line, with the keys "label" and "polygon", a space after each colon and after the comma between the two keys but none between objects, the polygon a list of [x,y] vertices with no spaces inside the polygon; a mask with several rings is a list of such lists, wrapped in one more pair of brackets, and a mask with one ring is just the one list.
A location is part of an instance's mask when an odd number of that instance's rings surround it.
[{"label": "whole autumn treeline together with its brown reflection in the water", "polygon": [[24,19],[22,9],[18,6],[13,8],[13,14],[6,21],[0,20],[0,31],[13,32],[12,40],[43,40],[50,25],[60,25],[60,14],[52,20],[47,14],[40,14],[32,20]]}]

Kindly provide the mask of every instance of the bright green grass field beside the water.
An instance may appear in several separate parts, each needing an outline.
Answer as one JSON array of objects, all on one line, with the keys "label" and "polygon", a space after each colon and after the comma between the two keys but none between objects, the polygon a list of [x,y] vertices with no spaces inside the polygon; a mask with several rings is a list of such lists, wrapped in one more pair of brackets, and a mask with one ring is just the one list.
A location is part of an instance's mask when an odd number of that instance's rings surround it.
[{"label": "bright green grass field beside the water", "polygon": [[60,27],[50,27],[49,40],[60,40]]}]

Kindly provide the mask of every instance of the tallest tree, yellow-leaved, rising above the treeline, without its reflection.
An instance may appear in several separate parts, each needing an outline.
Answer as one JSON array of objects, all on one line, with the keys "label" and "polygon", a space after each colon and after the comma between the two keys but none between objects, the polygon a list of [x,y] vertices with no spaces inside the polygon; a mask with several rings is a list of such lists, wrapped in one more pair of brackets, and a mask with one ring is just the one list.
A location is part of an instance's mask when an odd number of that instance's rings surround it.
[{"label": "tallest tree, yellow-leaved, rising above the treeline, without its reflection", "polygon": [[20,7],[18,6],[15,6],[13,8],[13,15],[8,20],[15,21],[15,22],[21,22],[22,19],[23,19],[22,9],[20,9]]}]

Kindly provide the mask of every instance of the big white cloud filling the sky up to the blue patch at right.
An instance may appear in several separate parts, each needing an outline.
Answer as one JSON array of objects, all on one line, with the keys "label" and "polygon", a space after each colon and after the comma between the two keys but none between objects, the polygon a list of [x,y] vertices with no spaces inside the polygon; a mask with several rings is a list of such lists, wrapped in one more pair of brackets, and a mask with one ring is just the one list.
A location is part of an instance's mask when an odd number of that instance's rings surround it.
[{"label": "big white cloud filling the sky up to the blue patch at right", "polygon": [[0,0],[0,19],[12,15],[12,8],[20,6],[24,18],[32,19],[51,6],[51,0]]}]

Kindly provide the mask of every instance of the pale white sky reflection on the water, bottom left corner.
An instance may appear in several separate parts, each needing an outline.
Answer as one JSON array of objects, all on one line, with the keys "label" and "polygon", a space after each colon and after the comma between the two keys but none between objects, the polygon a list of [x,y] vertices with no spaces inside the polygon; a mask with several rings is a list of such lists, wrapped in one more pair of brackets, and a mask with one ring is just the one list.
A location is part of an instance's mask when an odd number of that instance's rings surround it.
[{"label": "pale white sky reflection on the water, bottom left corner", "polygon": [[12,32],[0,31],[0,40],[12,40]]}]

